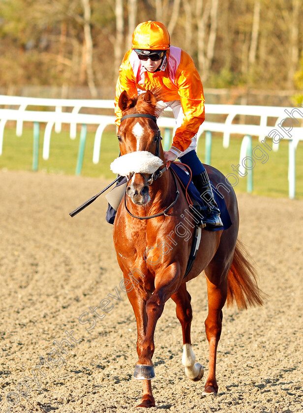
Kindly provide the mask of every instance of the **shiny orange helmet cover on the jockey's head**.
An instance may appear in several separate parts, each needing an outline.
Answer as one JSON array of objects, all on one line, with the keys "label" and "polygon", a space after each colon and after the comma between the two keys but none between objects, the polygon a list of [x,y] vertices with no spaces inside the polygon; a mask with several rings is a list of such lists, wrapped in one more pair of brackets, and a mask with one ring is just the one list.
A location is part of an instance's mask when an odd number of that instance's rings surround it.
[{"label": "shiny orange helmet cover on the jockey's head", "polygon": [[169,45],[169,32],[160,22],[140,23],[133,32],[132,49],[168,50]]}]

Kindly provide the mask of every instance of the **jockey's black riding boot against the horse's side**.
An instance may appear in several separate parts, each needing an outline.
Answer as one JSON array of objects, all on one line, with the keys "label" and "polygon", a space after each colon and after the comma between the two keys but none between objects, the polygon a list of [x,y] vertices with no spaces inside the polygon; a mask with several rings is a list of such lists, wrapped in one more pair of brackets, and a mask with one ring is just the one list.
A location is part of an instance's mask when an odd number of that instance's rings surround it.
[{"label": "jockey's black riding boot against the horse's side", "polygon": [[213,198],[212,186],[210,178],[206,171],[192,177],[195,187],[198,189],[202,200],[207,204],[208,208],[204,211],[203,223],[209,228],[222,227],[223,223],[220,218],[220,210]]}]

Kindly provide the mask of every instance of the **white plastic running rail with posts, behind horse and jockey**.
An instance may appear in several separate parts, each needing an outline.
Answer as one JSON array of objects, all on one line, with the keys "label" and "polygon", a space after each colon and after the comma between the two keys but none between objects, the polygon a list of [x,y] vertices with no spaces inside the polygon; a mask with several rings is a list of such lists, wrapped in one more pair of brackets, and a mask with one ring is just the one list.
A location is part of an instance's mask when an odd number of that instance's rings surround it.
[{"label": "white plastic running rail with posts, behind horse and jockey", "polygon": [[[27,108],[30,106],[30,110]],[[33,110],[37,107],[37,110]],[[46,111],[39,110],[45,107]],[[106,109],[112,110],[113,115],[94,115],[80,113],[81,109]],[[65,111],[64,111],[64,110]],[[66,112],[66,109],[69,112]],[[169,111],[170,109],[168,109]],[[289,197],[295,197],[295,158],[296,148],[299,141],[303,140],[303,127],[299,127],[303,119],[303,107],[295,108],[271,107],[271,106],[241,106],[241,105],[205,105],[206,114],[219,115],[219,121],[205,122],[200,126],[198,131],[198,140],[204,131],[222,132],[223,147],[227,148],[230,142],[231,134],[241,134],[243,136],[258,136],[260,142],[268,142],[276,139],[276,136],[283,136],[289,140]],[[165,110],[166,112],[167,110]],[[239,124],[233,123],[237,116],[258,117],[258,124]],[[274,126],[268,126],[269,118],[275,118]],[[223,119],[223,120],[222,120]],[[114,100],[98,99],[48,99],[21,96],[0,95],[0,155],[2,153],[3,132],[8,120],[16,121],[16,134],[22,135],[23,122],[45,122],[46,128],[43,141],[43,159],[48,159],[51,131],[55,125],[55,132],[61,131],[62,123],[70,125],[70,138],[75,139],[77,124],[95,124],[97,125],[94,149],[93,163],[99,162],[102,133],[106,126],[115,124]],[[175,130],[175,121],[173,118],[160,117],[158,119],[159,127],[170,128]],[[273,139],[266,137],[271,136]],[[247,138],[245,138],[247,139]],[[276,139],[279,141],[279,139]],[[268,144],[267,144],[268,145]],[[278,150],[279,144],[273,143],[274,151]]]}]

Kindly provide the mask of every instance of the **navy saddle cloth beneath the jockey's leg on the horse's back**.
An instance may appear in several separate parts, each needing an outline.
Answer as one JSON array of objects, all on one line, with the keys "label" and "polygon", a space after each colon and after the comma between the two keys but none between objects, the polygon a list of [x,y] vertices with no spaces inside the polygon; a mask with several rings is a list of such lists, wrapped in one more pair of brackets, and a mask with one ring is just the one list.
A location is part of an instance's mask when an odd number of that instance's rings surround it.
[{"label": "navy saddle cloth beneath the jockey's leg on the horse's back", "polygon": [[[187,175],[187,173],[185,171],[183,171],[178,165],[173,164],[173,163],[171,163],[171,168],[173,168],[173,170],[176,172],[176,174],[180,178],[182,184],[186,187],[186,185],[188,183],[188,180],[189,180],[189,176]],[[119,182],[117,184],[117,186],[120,186],[125,182],[126,182],[126,178],[123,178],[121,180],[121,182]],[[188,185],[187,192],[188,192],[189,197],[191,198],[191,200],[193,202],[195,201],[199,205],[201,205],[201,207],[205,207],[205,205],[203,203],[203,200],[200,198],[199,191],[195,187],[195,185],[193,184],[192,181],[190,181],[190,183]],[[232,225],[232,221],[230,219],[230,216],[229,216],[224,198],[221,198],[220,195],[217,194],[215,191],[213,191],[213,195],[214,195],[215,202],[217,203],[217,206],[220,209],[220,216],[221,216],[221,220],[223,222],[223,229],[227,230]],[[108,209],[107,209],[107,212],[106,212],[106,221],[109,224],[114,224],[116,213],[117,213],[117,211],[113,207],[108,205]],[[205,228],[205,230],[207,230],[207,231],[220,231],[220,230],[222,230],[222,227],[219,227],[219,228]]]}]

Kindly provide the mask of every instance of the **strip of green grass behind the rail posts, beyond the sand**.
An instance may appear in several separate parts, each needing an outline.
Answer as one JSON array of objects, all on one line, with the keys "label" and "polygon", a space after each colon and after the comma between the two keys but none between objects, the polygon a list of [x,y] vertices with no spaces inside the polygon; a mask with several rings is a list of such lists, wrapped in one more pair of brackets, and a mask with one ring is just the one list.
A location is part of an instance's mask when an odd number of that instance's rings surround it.
[{"label": "strip of green grass behind the rail posts, beyond the sand", "polygon": [[[39,171],[54,174],[74,175],[79,148],[79,136],[71,140],[69,132],[60,134],[52,132],[50,157],[47,161],[42,159],[44,129],[40,129],[39,140]],[[204,161],[204,135],[201,136],[198,145],[198,156]],[[92,151],[94,132],[88,132],[85,154],[83,160],[83,176],[105,177],[115,179],[110,171],[110,163],[119,154],[119,145],[114,127],[108,127],[102,136],[100,162],[92,163]],[[214,134],[212,139],[212,166],[227,175],[235,173],[232,164],[239,163],[240,147],[242,138],[232,137],[229,148],[222,147],[222,136]],[[259,144],[257,138],[253,138],[253,148]],[[22,137],[16,137],[14,128],[6,128],[3,138],[3,153],[0,156],[0,168],[8,170],[27,170],[32,168],[32,129],[24,129]],[[273,197],[288,197],[288,142],[282,141],[279,150],[273,152],[267,150],[268,160],[265,164],[256,160],[253,168],[253,193]],[[239,177],[239,183],[234,187],[236,192],[246,192],[246,177]],[[296,152],[296,198],[303,199],[303,142],[300,142]]]}]

